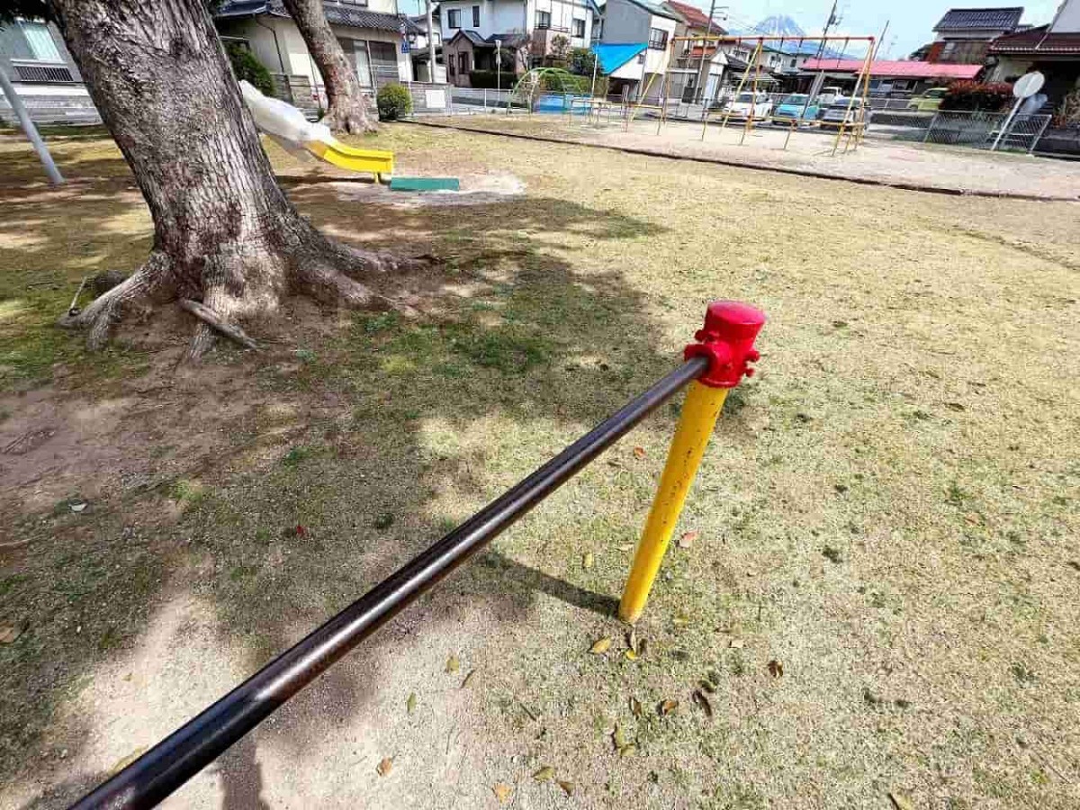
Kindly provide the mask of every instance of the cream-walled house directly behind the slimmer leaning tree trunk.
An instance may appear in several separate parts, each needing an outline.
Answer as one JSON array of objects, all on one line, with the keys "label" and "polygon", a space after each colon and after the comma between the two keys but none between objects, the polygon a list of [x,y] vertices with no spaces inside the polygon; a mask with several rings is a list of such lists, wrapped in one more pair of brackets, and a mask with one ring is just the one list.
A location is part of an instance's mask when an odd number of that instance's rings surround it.
[{"label": "cream-walled house directly behind the slimmer leaning tree trunk", "polygon": [[[419,29],[397,13],[396,0],[324,0],[323,10],[365,90],[413,80],[408,36]],[[279,97],[308,109],[325,105],[322,76],[281,0],[225,0],[214,24],[222,40],[251,48]]]}]

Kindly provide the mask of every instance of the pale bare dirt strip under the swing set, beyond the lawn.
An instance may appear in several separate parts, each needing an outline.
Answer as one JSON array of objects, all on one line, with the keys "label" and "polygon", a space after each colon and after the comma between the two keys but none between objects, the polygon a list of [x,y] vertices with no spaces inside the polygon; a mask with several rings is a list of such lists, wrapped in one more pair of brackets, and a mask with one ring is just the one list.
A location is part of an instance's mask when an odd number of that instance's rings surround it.
[{"label": "pale bare dirt strip under the swing set, beyond the lawn", "polygon": [[725,130],[710,126],[702,140],[700,123],[681,121],[670,121],[659,127],[657,121],[638,120],[624,131],[621,123],[567,123],[563,116],[459,116],[432,120],[467,129],[557,137],[900,187],[1080,200],[1080,162],[1012,152],[990,153],[870,137],[847,153],[841,141],[834,156],[835,134],[798,131],[788,137],[786,130],[770,126],[757,126],[745,136],[738,124],[729,124]]}]

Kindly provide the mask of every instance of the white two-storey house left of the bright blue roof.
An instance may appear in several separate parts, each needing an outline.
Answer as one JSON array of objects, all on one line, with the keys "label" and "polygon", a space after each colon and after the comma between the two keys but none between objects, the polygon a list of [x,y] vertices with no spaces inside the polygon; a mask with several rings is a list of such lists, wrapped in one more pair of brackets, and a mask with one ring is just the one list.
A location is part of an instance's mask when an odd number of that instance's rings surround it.
[{"label": "white two-storey house left of the bright blue roof", "polygon": [[447,79],[462,87],[473,71],[495,70],[497,50],[503,70],[523,73],[553,45],[589,48],[598,16],[593,0],[446,0],[438,11]]}]

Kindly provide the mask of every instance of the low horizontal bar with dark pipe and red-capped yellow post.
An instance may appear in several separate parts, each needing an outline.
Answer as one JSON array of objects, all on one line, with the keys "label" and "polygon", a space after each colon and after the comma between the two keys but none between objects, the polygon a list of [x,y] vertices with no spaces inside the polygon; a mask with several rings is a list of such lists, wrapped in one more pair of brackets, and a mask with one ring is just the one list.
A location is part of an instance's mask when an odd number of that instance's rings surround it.
[{"label": "low horizontal bar with dark pipe and red-capped yellow post", "polygon": [[686,348],[681,366],[84,796],[71,810],[149,808],[165,799],[689,384],[691,391],[620,606],[620,616],[636,619],[727,391],[753,374],[747,364],[758,359],[753,345],[764,323],[765,315],[744,303],[712,303],[704,328]]}]

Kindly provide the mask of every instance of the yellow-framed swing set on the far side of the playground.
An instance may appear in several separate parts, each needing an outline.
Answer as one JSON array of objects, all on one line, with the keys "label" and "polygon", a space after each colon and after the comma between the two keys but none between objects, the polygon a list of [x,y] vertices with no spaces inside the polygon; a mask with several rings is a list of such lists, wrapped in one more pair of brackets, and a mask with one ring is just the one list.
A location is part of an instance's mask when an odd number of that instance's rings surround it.
[{"label": "yellow-framed swing set on the far side of the playground", "polygon": [[[761,79],[761,55],[765,50],[766,42],[779,42],[779,49],[783,51],[785,42],[797,41],[799,46],[806,42],[806,40],[812,40],[814,42],[821,43],[822,53],[825,49],[826,42],[842,42],[840,56],[837,57],[837,62],[843,59],[847,54],[848,48],[852,42],[865,42],[866,43],[866,56],[863,58],[862,67],[859,73],[855,76],[855,86],[853,87],[851,95],[848,98],[848,107],[845,110],[843,120],[840,121],[839,126],[836,131],[836,138],[833,141],[833,151],[835,156],[840,147],[840,141],[843,141],[843,153],[849,149],[854,150],[859,148],[862,139],[866,132],[867,121],[867,110],[869,109],[869,85],[870,85],[870,64],[874,60],[874,55],[876,51],[876,39],[874,37],[784,37],[784,36],[760,36],[760,37],[729,37],[729,36],[708,36],[708,37],[672,37],[669,50],[667,50],[667,64],[674,63],[675,58],[675,48],[677,42],[686,43],[702,43],[702,63],[705,60],[705,49],[706,43],[714,43],[715,48],[719,48],[721,44],[742,44],[743,42],[754,43],[754,52],[751,55],[750,60],[746,63],[746,68],[743,70],[742,76],[739,78],[739,84],[734,92],[734,97],[738,98],[739,95],[746,87],[747,83],[751,83],[751,94],[753,98],[757,99],[758,87]],[[699,68],[700,70],[700,68]],[[825,68],[822,67],[822,75],[825,72]],[[667,93],[671,90],[671,72],[665,71],[663,78],[663,84],[660,94],[660,104],[646,104],[645,99],[648,98],[649,90],[652,86],[653,80],[657,78],[658,73],[650,73],[649,80],[646,82],[643,89],[639,100],[633,106],[630,113],[625,117],[625,129],[630,130],[630,124],[637,117],[638,112],[643,109],[656,110],[657,111],[657,135],[660,134],[665,123],[667,123]],[[860,107],[855,108],[855,99],[861,98],[862,103]],[[754,114],[755,103],[752,102],[750,109],[747,110],[743,127],[742,136],[739,139],[739,144],[742,145],[746,140],[746,135],[748,135],[756,123],[772,123],[772,124],[787,124],[789,126],[787,131],[787,136],[784,138],[784,149],[787,149],[787,145],[791,141],[792,133],[799,127],[800,124],[821,126],[820,122],[810,122],[804,119],[806,110],[809,107],[810,98],[807,97],[807,102],[802,108],[802,114],[798,118],[793,119],[780,119],[775,116],[762,116],[757,117]],[[718,116],[715,110],[707,109],[707,106],[702,114],[701,122],[701,139],[705,139],[705,134],[708,132],[708,124],[714,120],[714,117]],[[727,129],[728,121],[731,118],[731,110],[726,110],[723,112],[723,118],[720,120],[720,131]]]}]

